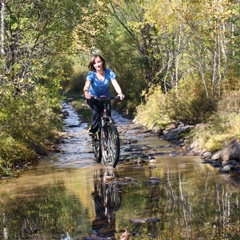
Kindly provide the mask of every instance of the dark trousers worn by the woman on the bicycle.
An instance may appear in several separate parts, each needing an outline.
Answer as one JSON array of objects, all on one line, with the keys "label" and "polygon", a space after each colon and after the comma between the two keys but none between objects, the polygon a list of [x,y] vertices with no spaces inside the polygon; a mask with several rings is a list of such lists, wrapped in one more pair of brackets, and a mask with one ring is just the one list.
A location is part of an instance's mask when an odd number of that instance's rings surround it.
[{"label": "dark trousers worn by the woman on the bicycle", "polygon": [[[96,133],[98,130],[98,123],[103,112],[103,104],[96,99],[87,100],[89,107],[92,109],[91,117],[91,132]],[[107,112],[111,116],[111,103],[107,103]]]}]

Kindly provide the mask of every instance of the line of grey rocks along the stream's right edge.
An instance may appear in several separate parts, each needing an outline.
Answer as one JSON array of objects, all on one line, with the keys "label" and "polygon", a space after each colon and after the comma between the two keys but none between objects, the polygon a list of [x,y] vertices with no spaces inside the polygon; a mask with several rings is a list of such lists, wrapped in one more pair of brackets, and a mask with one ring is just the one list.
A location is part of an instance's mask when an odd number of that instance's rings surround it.
[{"label": "line of grey rocks along the stream's right edge", "polygon": [[221,149],[209,151],[201,148],[201,140],[191,137],[191,131],[195,128],[207,127],[206,124],[197,126],[184,123],[170,124],[166,129],[152,127],[152,132],[159,135],[166,141],[175,143],[182,147],[187,155],[199,156],[204,163],[210,164],[214,168],[219,168],[223,173],[240,174],[240,144],[239,139],[234,138],[225,141]]}]

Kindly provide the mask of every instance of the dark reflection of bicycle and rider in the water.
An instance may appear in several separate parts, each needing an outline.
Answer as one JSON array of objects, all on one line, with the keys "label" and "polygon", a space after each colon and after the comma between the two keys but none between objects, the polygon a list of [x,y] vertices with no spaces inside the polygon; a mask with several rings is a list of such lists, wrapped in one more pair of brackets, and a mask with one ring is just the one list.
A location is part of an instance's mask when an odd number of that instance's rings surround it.
[{"label": "dark reflection of bicycle and rider in the water", "polygon": [[[91,196],[95,206],[95,219],[92,221],[92,236],[95,238],[116,239],[116,214],[121,206],[122,191],[118,184],[115,169],[98,169],[93,175],[94,191]],[[85,237],[83,239],[92,239]]]}]

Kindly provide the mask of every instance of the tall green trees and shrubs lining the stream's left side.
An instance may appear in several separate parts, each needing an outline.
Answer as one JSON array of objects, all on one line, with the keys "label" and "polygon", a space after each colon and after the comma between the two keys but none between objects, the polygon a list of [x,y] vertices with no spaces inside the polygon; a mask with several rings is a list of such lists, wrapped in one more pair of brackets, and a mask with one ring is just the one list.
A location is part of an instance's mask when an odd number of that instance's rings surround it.
[{"label": "tall green trees and shrubs lining the stream's left side", "polygon": [[44,142],[59,126],[60,83],[68,78],[67,54],[81,8],[55,0],[2,5],[0,127],[1,140],[11,144],[1,146],[0,157],[3,166],[12,166],[46,154]]}]

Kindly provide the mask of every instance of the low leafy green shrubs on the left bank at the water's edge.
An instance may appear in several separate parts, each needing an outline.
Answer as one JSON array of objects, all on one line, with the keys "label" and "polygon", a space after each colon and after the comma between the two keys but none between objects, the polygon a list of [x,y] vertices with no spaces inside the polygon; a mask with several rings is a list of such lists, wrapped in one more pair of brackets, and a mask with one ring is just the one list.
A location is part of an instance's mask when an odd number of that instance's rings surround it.
[{"label": "low leafy green shrubs on the left bank at the water's edge", "polygon": [[[2,88],[0,98],[1,159],[13,167],[46,154],[46,139],[54,139],[61,126],[59,99],[45,87],[11,98],[11,88]],[[59,116],[58,116],[59,115]]]}]

